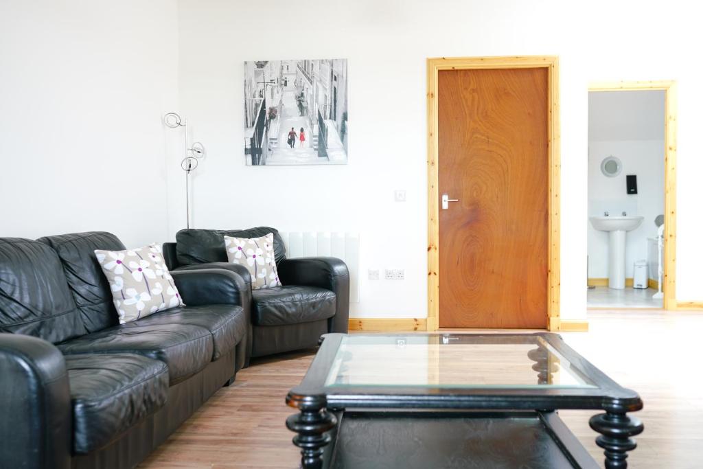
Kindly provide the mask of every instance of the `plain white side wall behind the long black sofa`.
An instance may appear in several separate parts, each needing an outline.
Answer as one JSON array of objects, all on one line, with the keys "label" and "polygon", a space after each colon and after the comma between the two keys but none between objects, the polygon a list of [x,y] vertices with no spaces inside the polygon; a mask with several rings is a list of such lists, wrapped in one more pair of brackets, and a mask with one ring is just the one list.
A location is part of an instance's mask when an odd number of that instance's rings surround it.
[{"label": "plain white side wall behind the long black sofa", "polygon": [[0,236],[167,236],[172,0],[0,3]]}]

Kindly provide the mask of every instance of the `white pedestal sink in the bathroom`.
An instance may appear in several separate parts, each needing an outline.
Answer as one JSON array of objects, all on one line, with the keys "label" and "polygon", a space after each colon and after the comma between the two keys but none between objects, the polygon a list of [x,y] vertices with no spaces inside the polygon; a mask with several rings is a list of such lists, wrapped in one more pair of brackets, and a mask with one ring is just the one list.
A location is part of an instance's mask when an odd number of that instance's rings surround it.
[{"label": "white pedestal sink in the bathroom", "polygon": [[625,288],[625,239],[626,233],[636,229],[644,217],[591,217],[593,228],[607,231],[610,238],[608,250],[608,287]]}]

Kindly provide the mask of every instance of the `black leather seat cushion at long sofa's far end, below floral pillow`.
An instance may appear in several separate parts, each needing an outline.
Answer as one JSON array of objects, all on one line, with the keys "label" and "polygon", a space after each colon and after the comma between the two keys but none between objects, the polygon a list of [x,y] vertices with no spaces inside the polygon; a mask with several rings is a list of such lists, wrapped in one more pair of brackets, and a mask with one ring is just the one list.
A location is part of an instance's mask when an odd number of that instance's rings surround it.
[{"label": "black leather seat cushion at long sofa's far end, below floral pillow", "polygon": [[247,333],[244,310],[233,304],[176,307],[126,323],[122,327],[156,326],[160,324],[190,324],[205,328],[212,334],[212,361],[226,355]]}]

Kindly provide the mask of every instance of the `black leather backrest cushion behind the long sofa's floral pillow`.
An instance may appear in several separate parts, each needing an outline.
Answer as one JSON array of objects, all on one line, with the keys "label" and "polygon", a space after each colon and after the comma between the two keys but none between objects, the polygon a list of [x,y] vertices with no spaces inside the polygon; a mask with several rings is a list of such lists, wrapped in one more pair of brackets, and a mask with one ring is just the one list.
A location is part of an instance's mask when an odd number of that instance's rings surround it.
[{"label": "black leather backrest cushion behind the long sofa's floral pillow", "polygon": [[61,259],[68,285],[88,332],[117,326],[119,321],[112,303],[110,284],[93,251],[124,250],[122,241],[104,231],[46,236],[39,238],[39,241],[51,246]]}]

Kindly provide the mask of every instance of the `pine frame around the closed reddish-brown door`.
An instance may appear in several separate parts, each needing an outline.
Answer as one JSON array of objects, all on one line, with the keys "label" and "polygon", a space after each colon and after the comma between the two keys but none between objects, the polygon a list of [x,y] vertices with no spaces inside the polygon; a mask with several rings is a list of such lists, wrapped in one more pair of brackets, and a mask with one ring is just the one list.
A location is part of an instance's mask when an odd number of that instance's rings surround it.
[{"label": "pine frame around the closed reddish-brown door", "polygon": [[427,59],[427,330],[439,328],[439,142],[440,70],[548,69],[548,301],[547,330],[560,330],[560,120],[559,60],[556,56],[458,57]]}]

